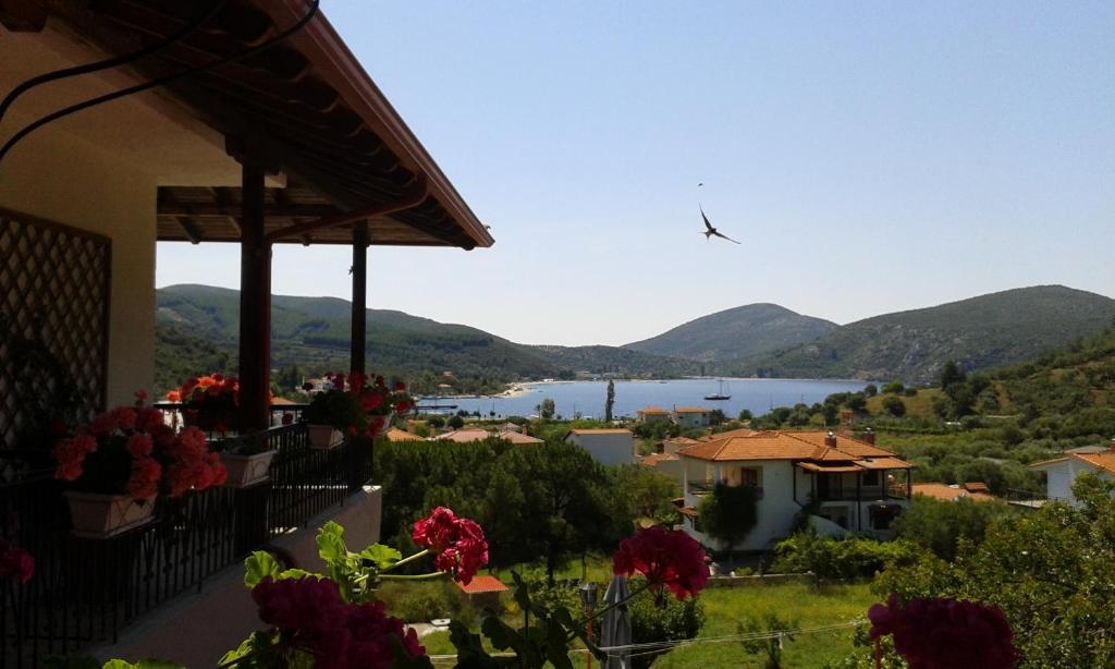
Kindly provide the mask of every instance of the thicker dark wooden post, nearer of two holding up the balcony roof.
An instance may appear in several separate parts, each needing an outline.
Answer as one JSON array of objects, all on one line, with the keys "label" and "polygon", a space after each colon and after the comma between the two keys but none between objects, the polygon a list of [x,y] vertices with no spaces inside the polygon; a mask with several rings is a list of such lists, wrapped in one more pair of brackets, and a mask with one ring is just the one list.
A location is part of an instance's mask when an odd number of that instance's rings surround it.
[{"label": "thicker dark wooden post, nearer of two holding up the balcony roof", "polygon": [[271,424],[271,243],[264,230],[263,174],[243,163],[240,235],[240,418],[241,428]]}]

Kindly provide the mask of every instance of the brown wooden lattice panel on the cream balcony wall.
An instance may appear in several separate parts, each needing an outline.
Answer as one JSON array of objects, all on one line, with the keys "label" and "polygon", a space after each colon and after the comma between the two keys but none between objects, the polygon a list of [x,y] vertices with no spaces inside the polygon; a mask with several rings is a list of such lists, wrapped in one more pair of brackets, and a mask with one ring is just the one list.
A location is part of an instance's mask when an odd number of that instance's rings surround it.
[{"label": "brown wooden lattice panel on the cream balcony wall", "polygon": [[0,448],[104,408],[110,268],[107,237],[0,210]]}]

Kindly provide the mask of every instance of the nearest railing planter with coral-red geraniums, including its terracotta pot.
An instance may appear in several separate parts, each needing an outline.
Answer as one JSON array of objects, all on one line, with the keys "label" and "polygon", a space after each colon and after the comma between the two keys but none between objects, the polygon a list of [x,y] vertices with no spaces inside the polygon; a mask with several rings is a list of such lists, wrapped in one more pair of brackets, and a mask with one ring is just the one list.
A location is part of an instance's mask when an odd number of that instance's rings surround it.
[{"label": "nearest railing planter with coral-red geraniums, including its terracotta pot", "polygon": [[175,433],[163,411],[143,401],[137,394],[135,407],[97,416],[51,452],[55,478],[71,484],[65,494],[78,536],[115,536],[149,522],[159,495],[224,483],[224,465],[210,453],[204,433]]}]

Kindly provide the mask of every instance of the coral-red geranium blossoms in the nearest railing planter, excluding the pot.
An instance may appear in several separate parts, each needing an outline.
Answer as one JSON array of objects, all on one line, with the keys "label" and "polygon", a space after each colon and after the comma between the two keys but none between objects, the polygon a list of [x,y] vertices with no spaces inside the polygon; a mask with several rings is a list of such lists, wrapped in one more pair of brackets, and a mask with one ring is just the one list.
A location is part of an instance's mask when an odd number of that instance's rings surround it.
[{"label": "coral-red geranium blossoms in the nearest railing planter, excluding the pot", "polygon": [[127,494],[138,501],[161,492],[176,497],[224,483],[220,457],[210,453],[195,427],[175,433],[163,411],[144,406],[116,407],[60,440],[52,455],[55,478],[87,493]]}]

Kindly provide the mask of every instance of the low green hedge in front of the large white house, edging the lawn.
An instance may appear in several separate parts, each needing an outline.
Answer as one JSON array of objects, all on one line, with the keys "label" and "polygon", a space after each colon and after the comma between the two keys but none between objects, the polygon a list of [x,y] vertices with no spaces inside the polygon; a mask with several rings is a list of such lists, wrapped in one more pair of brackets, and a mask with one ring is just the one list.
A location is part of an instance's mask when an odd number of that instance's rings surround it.
[{"label": "low green hedge in front of the large white house, edging the lawn", "polygon": [[778,542],[772,571],[813,572],[818,579],[870,579],[891,564],[911,564],[924,551],[908,541],[828,539],[805,531]]}]

